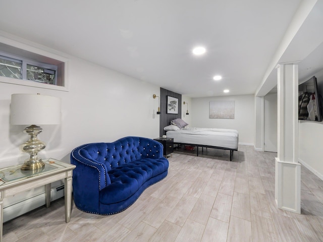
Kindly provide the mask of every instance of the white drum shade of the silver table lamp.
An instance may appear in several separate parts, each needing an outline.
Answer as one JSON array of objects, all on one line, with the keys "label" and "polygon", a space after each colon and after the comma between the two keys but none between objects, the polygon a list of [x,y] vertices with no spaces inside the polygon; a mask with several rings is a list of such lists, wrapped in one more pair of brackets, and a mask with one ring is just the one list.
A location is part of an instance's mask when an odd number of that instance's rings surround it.
[{"label": "white drum shade of the silver table lamp", "polygon": [[40,94],[12,94],[12,125],[57,125],[61,123],[61,98]]}]

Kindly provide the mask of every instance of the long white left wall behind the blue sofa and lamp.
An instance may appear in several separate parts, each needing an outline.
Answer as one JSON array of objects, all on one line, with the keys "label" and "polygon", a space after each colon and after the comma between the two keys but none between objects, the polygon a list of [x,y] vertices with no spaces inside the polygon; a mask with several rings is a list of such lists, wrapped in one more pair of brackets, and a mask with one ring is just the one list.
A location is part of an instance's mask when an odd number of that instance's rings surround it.
[{"label": "long white left wall behind the blue sofa and lamp", "polygon": [[[28,42],[28,44],[30,44]],[[40,52],[55,52],[36,45]],[[28,155],[18,148],[28,140],[25,127],[10,125],[13,93],[41,93],[62,98],[62,124],[44,126],[39,139],[47,146],[42,158],[70,162],[73,148],[89,142],[112,142],[124,136],[159,136],[158,86],[67,56],[69,91],[58,91],[0,82],[0,167],[23,163]],[[0,77],[1,78],[1,77]]]}]

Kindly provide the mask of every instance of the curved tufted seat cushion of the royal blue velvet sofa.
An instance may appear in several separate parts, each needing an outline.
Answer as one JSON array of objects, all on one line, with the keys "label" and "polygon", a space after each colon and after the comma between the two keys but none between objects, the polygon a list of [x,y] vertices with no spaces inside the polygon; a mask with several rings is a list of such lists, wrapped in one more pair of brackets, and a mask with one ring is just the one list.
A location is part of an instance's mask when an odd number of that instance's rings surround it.
[{"label": "curved tufted seat cushion of the royal blue velvet sofa", "polygon": [[109,170],[111,184],[100,191],[102,204],[112,204],[131,197],[150,178],[168,169],[166,159],[136,160]]}]

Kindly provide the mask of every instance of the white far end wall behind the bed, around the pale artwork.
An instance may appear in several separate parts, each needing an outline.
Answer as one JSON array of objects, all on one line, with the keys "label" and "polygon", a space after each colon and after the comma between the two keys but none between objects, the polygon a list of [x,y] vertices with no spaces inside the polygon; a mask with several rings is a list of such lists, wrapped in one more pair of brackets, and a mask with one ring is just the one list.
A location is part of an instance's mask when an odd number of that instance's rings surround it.
[{"label": "white far end wall behind the bed, around the pale artwork", "polygon": [[[239,144],[253,145],[254,95],[192,98],[192,123],[190,127],[234,129],[239,132]],[[235,118],[209,118],[209,102],[235,101]]]}]

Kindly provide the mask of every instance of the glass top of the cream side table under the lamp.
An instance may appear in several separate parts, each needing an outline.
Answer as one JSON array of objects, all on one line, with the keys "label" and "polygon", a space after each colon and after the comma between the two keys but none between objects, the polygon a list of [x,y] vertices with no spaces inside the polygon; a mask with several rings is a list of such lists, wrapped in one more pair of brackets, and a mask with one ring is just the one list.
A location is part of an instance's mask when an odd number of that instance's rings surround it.
[{"label": "glass top of the cream side table under the lamp", "polygon": [[43,159],[45,166],[38,170],[21,170],[22,164],[5,167],[0,169],[0,187],[4,184],[26,179],[41,174],[46,174],[54,170],[62,169],[71,166],[56,159]]}]

